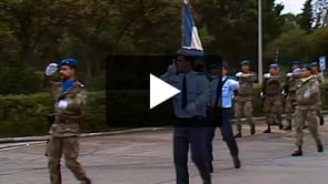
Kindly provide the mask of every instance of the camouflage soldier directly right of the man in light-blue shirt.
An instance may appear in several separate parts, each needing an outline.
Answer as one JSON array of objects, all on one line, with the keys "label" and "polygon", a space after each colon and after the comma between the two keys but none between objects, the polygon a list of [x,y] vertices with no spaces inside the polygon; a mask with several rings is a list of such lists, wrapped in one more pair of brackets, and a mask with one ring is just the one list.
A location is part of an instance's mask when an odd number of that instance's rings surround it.
[{"label": "camouflage soldier directly right of the man in light-blue shirt", "polygon": [[235,116],[236,116],[236,126],[238,133],[235,137],[241,137],[241,121],[242,115],[246,116],[248,124],[250,126],[250,134],[255,134],[255,123],[252,120],[252,86],[255,81],[255,74],[249,70],[249,61],[241,61],[241,72],[236,74],[239,81],[239,90],[235,98]]}]

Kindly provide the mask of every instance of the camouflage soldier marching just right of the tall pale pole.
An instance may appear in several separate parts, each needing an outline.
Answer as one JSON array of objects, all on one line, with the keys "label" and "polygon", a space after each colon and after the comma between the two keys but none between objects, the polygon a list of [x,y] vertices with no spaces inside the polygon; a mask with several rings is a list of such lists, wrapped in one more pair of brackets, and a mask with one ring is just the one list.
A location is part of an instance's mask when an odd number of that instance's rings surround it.
[{"label": "camouflage soldier marching just right of the tall pale pole", "polygon": [[264,133],[271,133],[272,124],[279,125],[281,130],[282,99],[278,64],[270,64],[269,73],[265,74],[260,96],[264,99],[264,111],[268,124]]}]

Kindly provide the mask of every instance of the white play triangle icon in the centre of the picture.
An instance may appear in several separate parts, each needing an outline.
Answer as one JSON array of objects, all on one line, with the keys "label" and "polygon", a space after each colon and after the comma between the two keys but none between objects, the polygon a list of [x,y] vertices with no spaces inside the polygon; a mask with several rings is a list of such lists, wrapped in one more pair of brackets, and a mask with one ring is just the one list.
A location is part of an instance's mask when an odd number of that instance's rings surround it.
[{"label": "white play triangle icon in the centre of the picture", "polygon": [[180,90],[150,73],[150,109],[180,93]]}]

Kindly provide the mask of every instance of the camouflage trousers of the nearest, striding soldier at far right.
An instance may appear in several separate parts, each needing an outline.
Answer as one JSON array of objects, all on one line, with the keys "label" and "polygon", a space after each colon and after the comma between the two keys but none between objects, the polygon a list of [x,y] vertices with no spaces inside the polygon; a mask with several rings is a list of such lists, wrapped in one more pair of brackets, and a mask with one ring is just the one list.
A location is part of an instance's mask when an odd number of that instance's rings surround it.
[{"label": "camouflage trousers of the nearest, striding soldier at far right", "polygon": [[318,116],[316,110],[296,110],[295,125],[296,125],[296,145],[302,145],[302,127],[307,122],[308,129],[315,139],[317,145],[321,144],[318,133]]}]

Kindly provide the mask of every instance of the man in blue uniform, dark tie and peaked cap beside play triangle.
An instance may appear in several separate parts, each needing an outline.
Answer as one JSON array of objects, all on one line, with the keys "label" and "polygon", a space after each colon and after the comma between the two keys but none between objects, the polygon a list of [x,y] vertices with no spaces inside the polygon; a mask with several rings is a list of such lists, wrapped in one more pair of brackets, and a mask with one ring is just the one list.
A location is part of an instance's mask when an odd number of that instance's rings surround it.
[{"label": "man in blue uniform, dark tie and peaked cap beside play triangle", "polygon": [[168,67],[161,79],[181,91],[173,99],[176,123],[173,129],[173,162],[177,184],[189,184],[188,152],[198,167],[203,184],[211,183],[209,159],[209,125],[207,105],[209,102],[209,81],[205,74],[193,71],[197,57],[193,49],[181,49],[177,63]]}]

